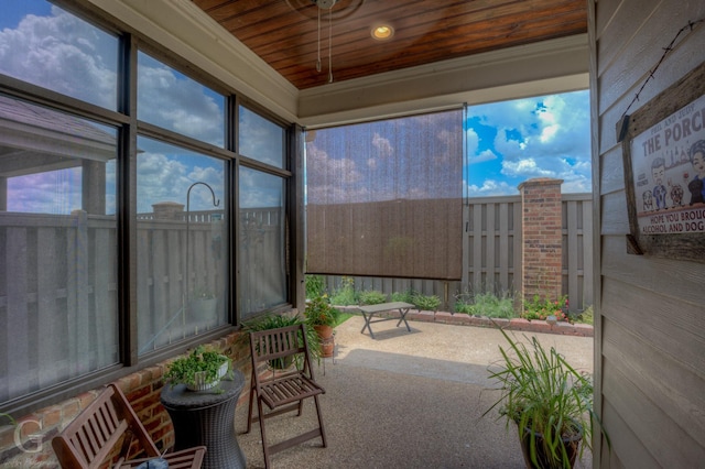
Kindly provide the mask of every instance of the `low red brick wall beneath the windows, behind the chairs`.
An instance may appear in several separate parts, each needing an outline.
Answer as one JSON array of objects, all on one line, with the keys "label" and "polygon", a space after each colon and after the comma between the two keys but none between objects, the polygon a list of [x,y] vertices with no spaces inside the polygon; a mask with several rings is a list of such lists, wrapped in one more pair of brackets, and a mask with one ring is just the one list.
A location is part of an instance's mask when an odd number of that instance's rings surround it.
[{"label": "low red brick wall beneath the windows, behind the chairs", "polygon": [[[235,369],[246,377],[246,386],[238,405],[247,405],[249,396],[249,378],[251,373],[249,349],[240,341],[240,332],[232,332],[208,343],[214,350],[232,359]],[[176,357],[174,357],[176,358]],[[160,393],[164,385],[162,377],[171,360],[161,362],[126,375],[118,380],[124,392],[152,436],[158,448],[170,448],[174,445],[174,429],[167,412],[160,403]],[[0,467],[2,468],[56,468],[58,462],[52,449],[52,438],[70,423],[100,393],[93,390],[67,401],[42,408],[17,419],[17,425],[0,426]],[[7,419],[0,421],[7,424]]]}]

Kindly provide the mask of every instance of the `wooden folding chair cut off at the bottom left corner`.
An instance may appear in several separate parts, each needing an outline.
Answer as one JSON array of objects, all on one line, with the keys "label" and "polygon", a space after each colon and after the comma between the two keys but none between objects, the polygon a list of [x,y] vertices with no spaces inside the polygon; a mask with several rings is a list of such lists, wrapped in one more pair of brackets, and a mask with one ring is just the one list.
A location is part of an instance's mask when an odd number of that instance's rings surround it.
[{"label": "wooden folding chair cut off at the bottom left corner", "polygon": [[[144,459],[127,460],[137,438],[135,455]],[[120,445],[118,451],[117,446]],[[130,406],[120,389],[110,384],[68,426],[52,439],[54,452],[62,468],[94,469],[119,455],[113,468],[135,468],[160,457],[159,449]],[[205,446],[184,449],[162,456],[170,469],[200,468]]]}]

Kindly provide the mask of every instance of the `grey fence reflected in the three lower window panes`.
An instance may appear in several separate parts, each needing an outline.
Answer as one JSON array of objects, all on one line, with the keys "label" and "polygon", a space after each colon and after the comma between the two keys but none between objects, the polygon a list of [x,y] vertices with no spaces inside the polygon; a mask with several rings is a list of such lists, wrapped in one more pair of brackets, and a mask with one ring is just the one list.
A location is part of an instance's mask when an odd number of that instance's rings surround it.
[{"label": "grey fence reflected in the three lower window panes", "polygon": [[[227,321],[225,214],[178,210],[138,215],[140,353]],[[240,210],[246,307],[286,292],[281,211]],[[0,211],[0,402],[119,361],[117,247],[115,216]]]}]

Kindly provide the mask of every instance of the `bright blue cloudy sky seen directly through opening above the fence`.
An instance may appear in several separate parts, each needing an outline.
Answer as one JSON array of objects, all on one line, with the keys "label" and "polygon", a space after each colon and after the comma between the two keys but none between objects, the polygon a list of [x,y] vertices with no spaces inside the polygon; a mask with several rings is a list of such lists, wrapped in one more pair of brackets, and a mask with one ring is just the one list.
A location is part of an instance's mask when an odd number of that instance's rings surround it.
[{"label": "bright blue cloudy sky seen directly through opening above the fence", "polygon": [[587,90],[468,108],[470,197],[518,194],[534,177],[563,179],[564,193],[589,193],[590,137]]}]

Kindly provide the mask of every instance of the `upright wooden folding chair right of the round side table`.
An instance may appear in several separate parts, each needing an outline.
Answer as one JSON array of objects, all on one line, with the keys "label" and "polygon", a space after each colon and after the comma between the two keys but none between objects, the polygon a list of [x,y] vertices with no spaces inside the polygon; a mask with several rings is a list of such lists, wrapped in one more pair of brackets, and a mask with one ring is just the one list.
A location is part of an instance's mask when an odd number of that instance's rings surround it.
[{"label": "upright wooden folding chair right of the round side table", "polygon": [[[313,377],[311,358],[308,356],[308,341],[303,324],[250,332],[250,350],[252,353],[252,388],[250,390],[250,406],[248,411],[247,433],[250,432],[252,422],[259,419],[262,433],[262,449],[264,452],[264,466],[269,468],[270,455],[282,451],[300,443],[321,437],[323,447],[327,446],[326,433],[323,428],[321,405],[318,395],[324,394]],[[263,363],[273,360],[285,361],[288,357],[303,359],[303,363],[292,371],[268,371],[260,375],[259,369]],[[258,415],[252,416],[252,403],[257,397]],[[269,417],[291,411],[299,411],[301,415],[303,402],[313,397],[318,416],[318,427],[302,435],[294,436],[275,445],[269,445],[264,429],[264,421]],[[269,411],[263,412],[262,404],[267,404]]]}]

